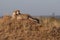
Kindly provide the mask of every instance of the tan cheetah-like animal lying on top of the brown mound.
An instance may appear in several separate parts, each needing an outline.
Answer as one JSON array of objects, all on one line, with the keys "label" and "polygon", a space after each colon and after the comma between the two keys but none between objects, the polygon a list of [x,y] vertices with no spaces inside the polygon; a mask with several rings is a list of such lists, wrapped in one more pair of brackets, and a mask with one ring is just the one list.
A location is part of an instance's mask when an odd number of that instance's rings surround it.
[{"label": "tan cheetah-like animal lying on top of the brown mound", "polygon": [[33,21],[39,22],[38,19],[33,18],[33,17],[30,16],[29,14],[21,14],[21,13],[20,13],[20,10],[15,10],[15,11],[13,11],[12,18],[13,18],[13,19],[17,19],[17,20],[29,19],[29,20],[33,20]]}]

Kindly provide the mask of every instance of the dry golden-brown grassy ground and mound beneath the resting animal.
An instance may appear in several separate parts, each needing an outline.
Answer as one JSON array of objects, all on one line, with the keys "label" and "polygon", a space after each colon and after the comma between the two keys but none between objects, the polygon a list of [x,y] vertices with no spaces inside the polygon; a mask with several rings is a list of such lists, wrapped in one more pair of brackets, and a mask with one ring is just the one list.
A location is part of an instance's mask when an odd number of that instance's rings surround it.
[{"label": "dry golden-brown grassy ground and mound beneath the resting animal", "polygon": [[0,18],[0,40],[60,40],[60,22],[56,18],[39,18],[40,23],[25,19]]}]

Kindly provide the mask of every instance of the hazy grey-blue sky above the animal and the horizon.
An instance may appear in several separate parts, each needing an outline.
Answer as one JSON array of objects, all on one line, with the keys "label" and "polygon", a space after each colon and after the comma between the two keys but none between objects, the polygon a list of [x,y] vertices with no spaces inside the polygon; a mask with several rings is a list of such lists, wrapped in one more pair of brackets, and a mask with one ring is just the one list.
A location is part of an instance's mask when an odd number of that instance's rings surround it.
[{"label": "hazy grey-blue sky above the animal and the horizon", "polygon": [[0,15],[12,14],[15,9],[30,15],[60,15],[60,0],[0,0]]}]

